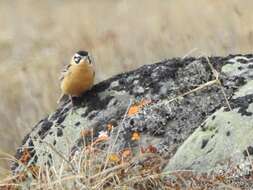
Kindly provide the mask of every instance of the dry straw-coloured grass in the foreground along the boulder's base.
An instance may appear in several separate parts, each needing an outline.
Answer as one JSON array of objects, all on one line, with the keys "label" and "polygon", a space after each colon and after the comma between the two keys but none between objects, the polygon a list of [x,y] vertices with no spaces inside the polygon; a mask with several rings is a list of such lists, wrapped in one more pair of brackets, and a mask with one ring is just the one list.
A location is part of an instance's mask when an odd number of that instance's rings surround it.
[{"label": "dry straw-coloured grass in the foreground along the boulder's base", "polygon": [[[10,175],[0,180],[0,189],[241,190],[246,189],[247,184],[252,184],[252,174],[235,177],[237,165],[229,165],[227,171],[219,173],[191,170],[165,173],[162,169],[167,162],[158,155],[156,149],[141,148],[135,155],[130,149],[108,154],[104,146],[109,148],[110,144],[108,146],[106,141],[95,141],[85,146],[70,161],[62,159],[61,167],[29,166],[16,176]],[[108,160],[107,164],[104,160]]]}]

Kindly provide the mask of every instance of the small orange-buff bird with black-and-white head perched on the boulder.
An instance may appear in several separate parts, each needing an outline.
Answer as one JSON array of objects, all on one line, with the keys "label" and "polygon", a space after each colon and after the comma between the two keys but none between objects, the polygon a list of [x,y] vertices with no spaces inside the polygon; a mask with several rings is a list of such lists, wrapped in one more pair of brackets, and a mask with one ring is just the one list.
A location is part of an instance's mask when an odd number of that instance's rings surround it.
[{"label": "small orange-buff bird with black-and-white head perched on the boulder", "polygon": [[87,51],[78,51],[61,73],[62,94],[58,103],[67,95],[73,105],[73,97],[81,96],[91,89],[95,77],[94,61]]}]

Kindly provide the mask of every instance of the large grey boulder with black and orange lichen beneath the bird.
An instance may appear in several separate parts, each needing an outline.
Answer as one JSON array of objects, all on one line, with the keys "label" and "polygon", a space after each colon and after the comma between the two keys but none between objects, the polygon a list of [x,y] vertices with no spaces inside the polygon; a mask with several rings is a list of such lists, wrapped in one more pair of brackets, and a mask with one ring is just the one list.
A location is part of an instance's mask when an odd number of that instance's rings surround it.
[{"label": "large grey boulder with black and orange lichen beneath the bird", "polygon": [[234,164],[249,175],[252,113],[253,55],[167,59],[100,82],[74,108],[64,102],[24,138],[12,170],[61,167],[106,135],[111,152],[152,146],[164,172]]}]

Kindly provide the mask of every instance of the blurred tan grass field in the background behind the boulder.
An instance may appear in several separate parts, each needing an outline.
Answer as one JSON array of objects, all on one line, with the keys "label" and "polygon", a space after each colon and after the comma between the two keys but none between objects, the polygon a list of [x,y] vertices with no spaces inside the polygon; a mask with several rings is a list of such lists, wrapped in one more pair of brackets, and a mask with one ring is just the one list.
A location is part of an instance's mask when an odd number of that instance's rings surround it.
[{"label": "blurred tan grass field in the background behind the boulder", "polygon": [[[252,7],[252,0],[1,0],[0,152],[13,154],[54,111],[60,70],[76,50],[92,52],[97,82],[164,58],[250,53]],[[1,159],[0,174],[7,163]]]}]

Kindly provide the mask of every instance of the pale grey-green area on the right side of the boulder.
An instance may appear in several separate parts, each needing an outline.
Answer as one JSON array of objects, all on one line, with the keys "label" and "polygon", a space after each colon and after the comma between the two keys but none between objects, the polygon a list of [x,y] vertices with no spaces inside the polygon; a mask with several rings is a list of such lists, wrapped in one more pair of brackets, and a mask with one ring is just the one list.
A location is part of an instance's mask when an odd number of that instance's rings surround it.
[{"label": "pale grey-green area on the right side of the boulder", "polygon": [[[239,61],[238,61],[239,60]],[[227,170],[228,164],[239,168],[237,175],[252,172],[253,155],[253,60],[235,57],[221,68],[228,77],[224,84],[240,79],[242,86],[229,98],[230,108],[222,106],[211,114],[180,146],[165,171]],[[232,87],[232,86],[231,86]],[[229,97],[229,96],[228,96]]]}]

